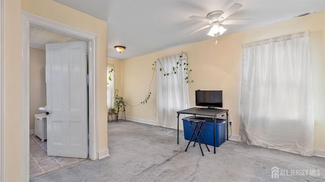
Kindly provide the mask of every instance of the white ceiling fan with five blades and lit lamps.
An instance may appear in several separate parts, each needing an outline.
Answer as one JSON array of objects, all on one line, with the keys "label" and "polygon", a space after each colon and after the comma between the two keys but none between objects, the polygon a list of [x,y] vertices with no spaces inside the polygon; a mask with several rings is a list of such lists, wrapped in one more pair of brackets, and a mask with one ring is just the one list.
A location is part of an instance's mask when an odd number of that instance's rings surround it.
[{"label": "white ceiling fan with five blades and lit lamps", "polygon": [[222,33],[224,33],[227,30],[221,25],[247,24],[247,23],[249,23],[249,21],[251,19],[225,20],[231,14],[233,14],[235,11],[239,10],[241,7],[243,7],[243,5],[235,3],[232,7],[230,7],[225,12],[213,11],[213,12],[209,13],[206,18],[199,17],[199,16],[191,16],[191,17],[189,17],[190,19],[204,21],[204,22],[209,23],[209,25],[206,25],[199,29],[193,30],[187,34],[195,33],[195,32],[198,32],[200,30],[203,30],[205,28],[212,26],[208,35],[210,35],[212,37],[217,37],[217,35],[221,35]]}]

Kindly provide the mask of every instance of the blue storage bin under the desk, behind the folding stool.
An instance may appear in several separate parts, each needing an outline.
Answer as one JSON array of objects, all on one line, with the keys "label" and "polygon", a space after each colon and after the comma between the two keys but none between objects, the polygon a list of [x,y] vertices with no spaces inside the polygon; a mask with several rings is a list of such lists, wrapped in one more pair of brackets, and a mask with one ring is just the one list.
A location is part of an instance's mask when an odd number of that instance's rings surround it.
[{"label": "blue storage bin under the desk, behind the folding stool", "polygon": [[[189,118],[193,116],[189,116],[183,118],[183,126],[184,126],[184,138],[186,140],[191,139],[191,135],[193,129],[191,127],[191,123],[188,121]],[[200,117],[203,118],[203,117]],[[212,118],[204,118],[205,122],[203,122],[201,132],[207,144],[213,146],[213,119]],[[226,121],[225,119],[217,119],[215,123],[215,147],[219,147],[225,141],[225,129],[226,129]],[[199,124],[200,125],[200,124]],[[195,127],[193,123],[193,127]],[[193,139],[196,136],[193,136]],[[199,135],[200,142],[203,142],[201,135]]]}]

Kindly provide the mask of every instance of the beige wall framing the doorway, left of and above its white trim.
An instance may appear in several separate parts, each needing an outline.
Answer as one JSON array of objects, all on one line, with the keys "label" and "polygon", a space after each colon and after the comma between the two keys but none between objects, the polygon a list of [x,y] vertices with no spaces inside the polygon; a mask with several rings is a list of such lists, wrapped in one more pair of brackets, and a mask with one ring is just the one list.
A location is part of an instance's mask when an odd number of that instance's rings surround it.
[{"label": "beige wall framing the doorway, left of and above its white trim", "polygon": [[5,0],[5,181],[21,180],[21,11],[98,34],[99,151],[107,149],[107,23],[50,0]]}]

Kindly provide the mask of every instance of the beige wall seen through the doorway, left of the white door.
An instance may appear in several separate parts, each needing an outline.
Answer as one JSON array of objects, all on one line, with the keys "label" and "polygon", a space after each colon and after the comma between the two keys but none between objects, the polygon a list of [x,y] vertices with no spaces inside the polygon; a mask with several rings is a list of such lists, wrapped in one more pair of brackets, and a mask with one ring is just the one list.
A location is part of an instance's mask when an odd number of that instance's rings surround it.
[{"label": "beige wall seen through the doorway, left of the white door", "polygon": [[29,48],[29,130],[34,129],[34,115],[46,105],[45,50]]}]

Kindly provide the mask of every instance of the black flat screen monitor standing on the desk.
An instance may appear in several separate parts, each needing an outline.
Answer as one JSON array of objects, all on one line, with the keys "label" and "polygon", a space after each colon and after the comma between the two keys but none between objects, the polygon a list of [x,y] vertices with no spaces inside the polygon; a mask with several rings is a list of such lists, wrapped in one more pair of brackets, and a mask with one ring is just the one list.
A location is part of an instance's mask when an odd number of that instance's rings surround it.
[{"label": "black flat screen monitor standing on the desk", "polygon": [[196,90],[195,103],[208,108],[222,107],[222,90]]}]

